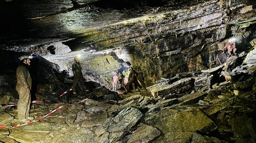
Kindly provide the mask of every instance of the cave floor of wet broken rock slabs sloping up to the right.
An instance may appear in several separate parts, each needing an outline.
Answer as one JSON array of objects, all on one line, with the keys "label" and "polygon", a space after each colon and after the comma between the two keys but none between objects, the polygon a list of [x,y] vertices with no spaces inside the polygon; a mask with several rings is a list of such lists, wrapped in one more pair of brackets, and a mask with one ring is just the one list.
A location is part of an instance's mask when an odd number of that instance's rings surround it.
[{"label": "cave floor of wet broken rock slabs sloping up to the right", "polygon": [[[36,120],[28,125],[18,122],[17,105],[4,106],[16,103],[17,93],[4,92],[0,141],[255,142],[256,78],[247,61],[231,70],[234,72],[225,71],[233,64],[227,62],[219,68],[163,78],[148,89],[137,88],[128,93],[118,89],[114,99],[107,98],[114,95],[113,91],[99,83],[94,84],[91,93],[77,96],[67,92],[59,97],[49,89],[37,91],[40,102],[32,103],[31,108]],[[242,66],[243,70],[239,70]],[[223,72],[230,72],[230,80],[216,82],[212,78],[224,76]],[[195,82],[201,77],[206,80]],[[188,84],[190,90],[183,90]],[[152,94],[159,91],[164,92]],[[94,96],[86,99],[92,93]],[[55,99],[47,97],[49,94]]]}]

